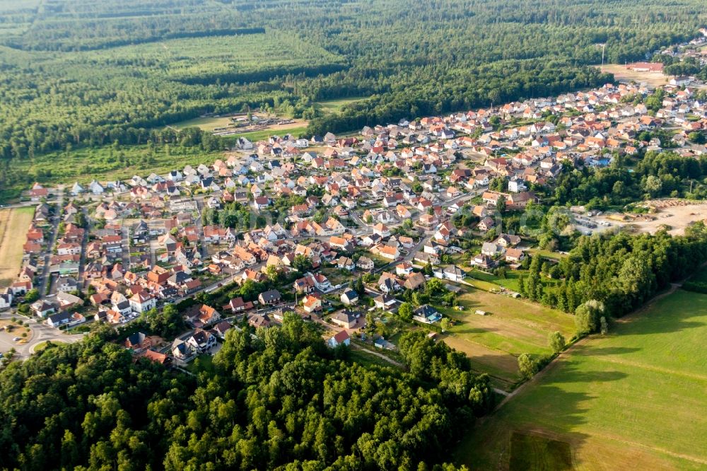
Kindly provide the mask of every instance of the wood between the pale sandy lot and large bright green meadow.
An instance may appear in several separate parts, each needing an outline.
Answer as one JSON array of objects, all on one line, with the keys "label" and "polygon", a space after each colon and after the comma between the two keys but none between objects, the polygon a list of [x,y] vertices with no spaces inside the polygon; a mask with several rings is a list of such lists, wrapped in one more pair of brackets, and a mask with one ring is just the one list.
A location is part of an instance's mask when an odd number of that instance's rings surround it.
[{"label": "wood between the pale sandy lot and large bright green meadow", "polygon": [[[621,317],[707,261],[707,228],[699,221],[684,236],[658,231],[581,237],[552,272],[543,273],[539,260],[533,258],[521,283],[527,298],[569,313],[587,301],[600,301],[607,315]],[[542,284],[540,278],[550,274],[559,283]]]}]

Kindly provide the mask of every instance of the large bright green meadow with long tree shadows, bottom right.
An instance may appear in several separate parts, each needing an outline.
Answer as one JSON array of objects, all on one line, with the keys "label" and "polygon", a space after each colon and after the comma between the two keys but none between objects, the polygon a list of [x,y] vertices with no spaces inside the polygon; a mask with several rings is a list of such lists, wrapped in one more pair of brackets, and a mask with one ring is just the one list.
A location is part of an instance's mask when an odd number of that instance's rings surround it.
[{"label": "large bright green meadow with long tree shadows, bottom right", "polygon": [[561,355],[457,458],[477,470],[568,469],[546,438],[568,443],[578,470],[706,469],[706,336],[707,295],[675,291]]}]

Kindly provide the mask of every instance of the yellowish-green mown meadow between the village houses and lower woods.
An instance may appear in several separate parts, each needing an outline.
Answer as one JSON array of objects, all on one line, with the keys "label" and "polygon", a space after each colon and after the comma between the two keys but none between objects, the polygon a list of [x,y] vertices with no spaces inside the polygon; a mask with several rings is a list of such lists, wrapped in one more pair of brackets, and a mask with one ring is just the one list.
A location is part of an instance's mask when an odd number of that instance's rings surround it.
[{"label": "yellowish-green mown meadow between the village houses and lower woods", "polygon": [[459,301],[463,311],[443,309],[456,321],[445,342],[464,351],[474,368],[501,380],[506,389],[520,379],[518,355],[551,354],[547,345],[551,332],[557,330],[567,338],[574,332],[571,315],[509,296],[473,290]]}]

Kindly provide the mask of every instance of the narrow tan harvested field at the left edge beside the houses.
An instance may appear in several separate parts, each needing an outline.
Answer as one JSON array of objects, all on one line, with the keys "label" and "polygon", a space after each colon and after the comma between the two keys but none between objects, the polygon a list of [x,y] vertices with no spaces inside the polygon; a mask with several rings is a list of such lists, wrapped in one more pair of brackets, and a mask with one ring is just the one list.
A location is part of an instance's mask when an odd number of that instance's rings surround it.
[{"label": "narrow tan harvested field at the left edge beside the houses", "polygon": [[22,264],[22,245],[35,209],[0,210],[0,288],[9,286]]}]

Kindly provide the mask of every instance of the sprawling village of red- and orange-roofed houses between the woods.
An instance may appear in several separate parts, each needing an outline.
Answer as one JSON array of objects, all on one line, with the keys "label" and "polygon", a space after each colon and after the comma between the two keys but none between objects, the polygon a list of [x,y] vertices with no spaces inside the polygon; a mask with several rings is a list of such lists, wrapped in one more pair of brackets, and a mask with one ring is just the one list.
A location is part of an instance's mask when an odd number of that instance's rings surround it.
[{"label": "sprawling village of red- and orange-roofed houses between the woods", "polygon": [[[454,292],[469,267],[520,267],[533,247],[504,233],[501,216],[540,202],[533,189],[551,187],[563,168],[663,149],[639,136],[668,127],[672,150],[706,154],[687,139],[707,129],[692,86],[673,78],[654,113],[632,104],[648,86],[607,84],[354,135],[241,138],[211,165],[165,175],[37,183],[26,195],[36,210],[23,266],[0,308],[21,306],[57,330],[105,322],[129,332],[136,356],[177,366],[213,353],[229,329],[275,326],[288,312],[322,325],[332,347],[356,339],[395,349],[367,324],[385,323],[402,293],[432,279]],[[471,225],[455,223],[460,211]],[[611,226],[591,216],[578,214],[583,232]],[[184,332],[129,330],[165,306],[177,306]],[[443,317],[423,304],[409,324],[435,335]]]}]

